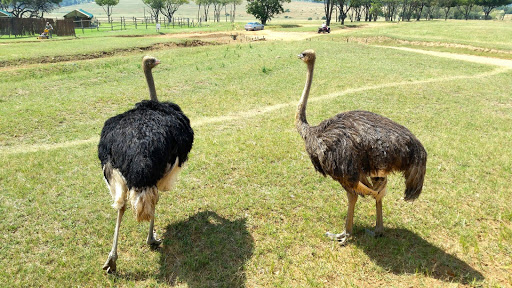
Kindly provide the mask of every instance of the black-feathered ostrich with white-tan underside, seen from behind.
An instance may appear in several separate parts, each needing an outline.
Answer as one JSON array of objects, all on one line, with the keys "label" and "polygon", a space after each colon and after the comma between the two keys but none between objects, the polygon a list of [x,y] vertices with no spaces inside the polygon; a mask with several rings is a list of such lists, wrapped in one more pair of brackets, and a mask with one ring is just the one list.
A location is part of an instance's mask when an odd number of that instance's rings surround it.
[{"label": "black-feathered ostrich with white-tan underside, seen from behind", "polygon": [[112,250],[103,266],[108,273],[116,270],[119,226],[128,199],[137,221],[150,221],[147,244],[160,245],[153,231],[158,190],[172,188],[194,141],[190,121],[180,107],[158,102],[151,69],[159,63],[150,56],[142,60],[151,100],[108,119],[101,131],[98,157],[112,206],[118,210]]}]

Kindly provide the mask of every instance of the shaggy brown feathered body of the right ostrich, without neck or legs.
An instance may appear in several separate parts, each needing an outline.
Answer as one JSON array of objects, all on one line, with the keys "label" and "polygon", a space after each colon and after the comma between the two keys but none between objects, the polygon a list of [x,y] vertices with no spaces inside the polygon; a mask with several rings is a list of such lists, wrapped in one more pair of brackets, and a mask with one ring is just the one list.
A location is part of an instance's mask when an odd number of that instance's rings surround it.
[{"label": "shaggy brown feathered body of the right ostrich, without neck or legs", "polygon": [[[306,151],[315,169],[354,191],[362,178],[402,172],[406,199],[419,196],[427,153],[404,126],[368,111],[340,113],[304,131]],[[413,179],[409,179],[409,178]]]}]

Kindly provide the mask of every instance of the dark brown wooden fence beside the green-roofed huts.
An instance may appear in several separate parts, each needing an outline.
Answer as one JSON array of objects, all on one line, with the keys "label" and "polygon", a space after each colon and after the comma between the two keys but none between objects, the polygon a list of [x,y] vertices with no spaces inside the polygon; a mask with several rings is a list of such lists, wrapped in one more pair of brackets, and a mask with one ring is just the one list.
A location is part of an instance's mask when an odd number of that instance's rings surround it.
[{"label": "dark brown wooden fence beside the green-roofed huts", "polygon": [[31,36],[41,34],[50,22],[53,34],[59,36],[75,36],[72,20],[56,20],[51,18],[0,18],[0,36]]}]

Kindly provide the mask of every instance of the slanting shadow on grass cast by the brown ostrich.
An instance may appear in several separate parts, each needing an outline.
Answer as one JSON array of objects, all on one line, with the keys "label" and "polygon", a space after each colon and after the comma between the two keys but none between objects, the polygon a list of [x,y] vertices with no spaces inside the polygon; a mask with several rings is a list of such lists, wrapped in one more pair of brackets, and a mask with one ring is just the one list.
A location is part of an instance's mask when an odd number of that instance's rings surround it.
[{"label": "slanting shadow on grass cast by the brown ostrich", "polygon": [[[366,228],[373,230],[373,227]],[[464,261],[407,229],[384,229],[383,237],[361,237],[355,245],[375,264],[394,274],[421,273],[441,281],[461,284],[484,280],[482,273]]]}]

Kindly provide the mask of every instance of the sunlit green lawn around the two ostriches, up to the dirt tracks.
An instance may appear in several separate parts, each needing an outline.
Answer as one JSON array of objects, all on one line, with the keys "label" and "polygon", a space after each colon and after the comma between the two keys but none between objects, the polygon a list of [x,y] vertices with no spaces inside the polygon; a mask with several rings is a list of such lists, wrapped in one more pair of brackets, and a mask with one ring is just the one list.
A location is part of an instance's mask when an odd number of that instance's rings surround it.
[{"label": "sunlit green lawn around the two ostriches, up to the dirt tracks", "polygon": [[[511,286],[512,70],[332,40],[151,51],[160,100],[182,107],[196,138],[157,205],[162,247],[145,245],[148,224],[129,210],[116,275],[101,270],[116,211],[96,146],[106,119],[149,97],[146,53],[2,68],[1,285]],[[307,48],[318,57],[311,124],[376,112],[429,154],[414,203],[391,176],[384,237],[365,233],[370,198],[346,247],[324,237],[344,229],[347,201],[314,171],[293,125],[306,77],[296,55]]]}]

